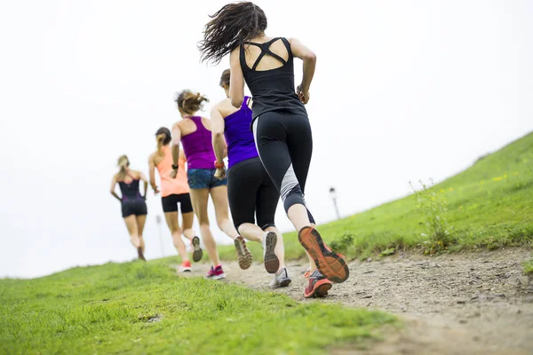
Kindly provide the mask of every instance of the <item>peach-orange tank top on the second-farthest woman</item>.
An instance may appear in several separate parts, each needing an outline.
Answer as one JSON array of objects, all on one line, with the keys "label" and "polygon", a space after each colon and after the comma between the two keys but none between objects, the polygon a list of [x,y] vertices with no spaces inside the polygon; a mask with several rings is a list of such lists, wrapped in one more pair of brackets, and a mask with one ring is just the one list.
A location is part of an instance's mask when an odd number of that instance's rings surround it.
[{"label": "peach-orange tank top on the second-farthest woman", "polygon": [[176,178],[171,178],[169,176],[172,170],[171,146],[163,146],[163,154],[163,161],[157,164],[157,170],[161,177],[161,196],[166,197],[171,194],[189,193],[187,172],[185,171],[185,155],[183,152],[179,154],[178,176]]}]

